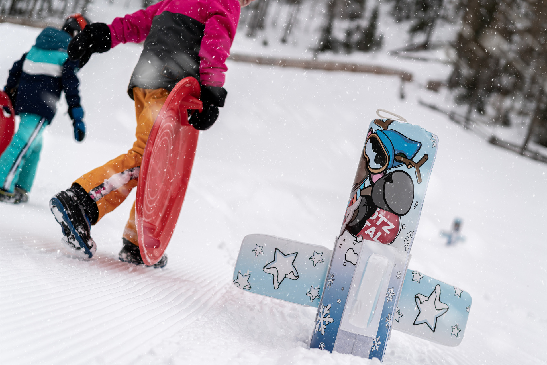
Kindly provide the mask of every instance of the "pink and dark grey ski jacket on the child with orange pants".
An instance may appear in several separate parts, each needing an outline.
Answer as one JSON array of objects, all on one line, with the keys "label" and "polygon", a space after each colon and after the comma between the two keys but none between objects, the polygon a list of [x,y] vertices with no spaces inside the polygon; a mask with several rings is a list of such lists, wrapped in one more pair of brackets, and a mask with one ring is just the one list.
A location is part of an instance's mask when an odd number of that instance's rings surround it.
[{"label": "pink and dark grey ski jacket on the child with orange pants", "polygon": [[114,19],[112,47],[144,40],[127,90],[131,98],[134,86],[171,90],[187,76],[223,86],[240,11],[238,0],[164,0]]}]

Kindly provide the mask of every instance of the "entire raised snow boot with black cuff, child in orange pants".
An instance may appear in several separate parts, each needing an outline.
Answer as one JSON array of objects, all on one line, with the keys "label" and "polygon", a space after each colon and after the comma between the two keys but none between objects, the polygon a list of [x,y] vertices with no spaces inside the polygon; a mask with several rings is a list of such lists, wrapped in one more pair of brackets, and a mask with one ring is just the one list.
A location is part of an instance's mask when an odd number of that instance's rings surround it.
[{"label": "entire raised snow boot with black cuff, child in orange pants", "polygon": [[67,249],[82,258],[91,258],[97,245],[91,238],[90,230],[91,223],[97,220],[98,208],[88,193],[78,184],[73,184],[70,189],[54,195],[49,201],[49,208],[61,225],[65,235],[62,242]]}]

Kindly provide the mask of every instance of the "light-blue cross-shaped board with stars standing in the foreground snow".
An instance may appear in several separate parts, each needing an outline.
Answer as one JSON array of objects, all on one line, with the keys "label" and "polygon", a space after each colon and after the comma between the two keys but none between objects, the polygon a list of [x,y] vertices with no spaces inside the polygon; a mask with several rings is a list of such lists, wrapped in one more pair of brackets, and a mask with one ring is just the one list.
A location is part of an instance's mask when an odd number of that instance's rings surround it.
[{"label": "light-blue cross-shaped board with stars standing in the foreground snow", "polygon": [[234,284],[315,306],[311,348],[382,361],[392,328],[463,339],[469,293],[408,268],[438,138],[395,116],[370,123],[333,250],[261,234],[241,244]]}]

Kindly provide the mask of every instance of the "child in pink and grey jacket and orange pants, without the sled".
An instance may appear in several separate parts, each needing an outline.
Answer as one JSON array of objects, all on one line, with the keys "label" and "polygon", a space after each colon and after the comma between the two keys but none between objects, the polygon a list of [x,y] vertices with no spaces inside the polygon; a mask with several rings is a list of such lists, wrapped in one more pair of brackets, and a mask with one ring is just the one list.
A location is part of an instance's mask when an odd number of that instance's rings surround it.
[{"label": "child in pink and grey jacket and orange pants, without the sled", "polygon": [[[241,7],[252,0],[164,0],[144,10],[116,18],[110,25],[85,27],[68,45],[68,56],[88,62],[120,43],[144,40],[141,57],[133,71],[127,94],[135,100],[137,140],[125,154],[84,174],[72,187],[56,194],[51,211],[61,225],[63,243],[79,256],[91,258],[96,251],[91,225],[121,204],[137,186],[139,166],[154,124],[167,95],[183,78],[195,77],[201,85],[203,111],[189,123],[206,130],[224,106],[226,58],[234,40]],[[81,66],[80,66],[81,67]],[[123,234],[120,260],[142,264],[135,224],[135,203]],[[164,255],[154,267],[167,264]]]}]

